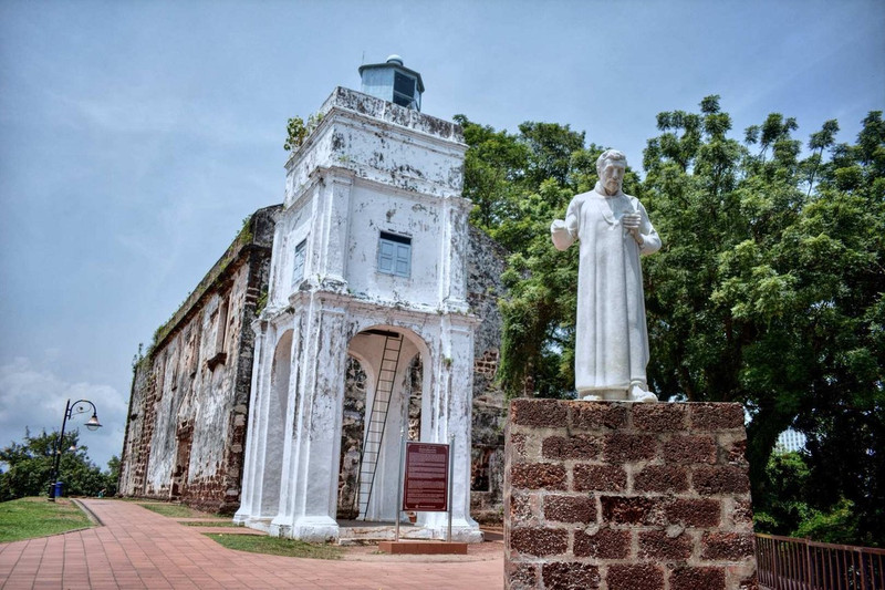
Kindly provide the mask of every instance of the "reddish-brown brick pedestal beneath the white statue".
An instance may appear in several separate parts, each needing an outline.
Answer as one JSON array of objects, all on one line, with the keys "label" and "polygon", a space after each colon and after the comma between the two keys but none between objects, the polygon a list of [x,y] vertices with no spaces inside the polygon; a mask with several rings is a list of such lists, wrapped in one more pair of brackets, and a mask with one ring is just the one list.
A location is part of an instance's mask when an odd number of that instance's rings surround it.
[{"label": "reddish-brown brick pedestal beneath the white statue", "polygon": [[516,400],[504,587],[756,589],[740,404]]}]

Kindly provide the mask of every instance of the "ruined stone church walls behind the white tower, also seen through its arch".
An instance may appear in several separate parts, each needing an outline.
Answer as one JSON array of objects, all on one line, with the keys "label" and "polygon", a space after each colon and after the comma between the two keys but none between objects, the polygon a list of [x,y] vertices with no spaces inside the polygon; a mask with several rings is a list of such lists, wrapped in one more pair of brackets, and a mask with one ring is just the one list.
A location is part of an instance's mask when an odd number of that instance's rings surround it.
[{"label": "ruined stone church walls behind the white tower, also seen through its arch", "polygon": [[[275,207],[262,211],[270,209]],[[253,245],[263,248],[229,261],[225,279],[217,268],[222,257],[173,320],[158,330],[165,329],[165,335],[135,368],[121,464],[123,496],[180,499],[212,511],[238,507],[254,348],[250,323],[258,298],[267,292],[273,235],[271,215],[260,217],[260,235]],[[507,252],[482,231],[469,229],[468,303],[482,320],[475,338],[471,516],[494,522],[502,518],[503,498],[506,410],[494,377],[501,339],[500,276]],[[229,301],[229,356],[217,363],[217,318],[225,300]],[[419,435],[421,371],[418,359],[407,374],[412,438]],[[362,446],[366,384],[357,361],[348,360],[345,379],[341,518],[353,516],[351,490]]]}]

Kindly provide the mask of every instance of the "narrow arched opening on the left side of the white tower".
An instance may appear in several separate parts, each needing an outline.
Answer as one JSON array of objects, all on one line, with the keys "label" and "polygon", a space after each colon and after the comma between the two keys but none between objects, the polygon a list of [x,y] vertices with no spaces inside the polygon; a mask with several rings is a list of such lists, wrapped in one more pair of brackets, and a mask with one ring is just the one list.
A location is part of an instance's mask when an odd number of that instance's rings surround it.
[{"label": "narrow arched opening on the left side of the white tower", "polygon": [[283,472],[283,437],[288,415],[289,381],[292,370],[292,330],[277,341],[268,392],[267,444],[261,491],[261,515],[275,516],[280,505]]}]

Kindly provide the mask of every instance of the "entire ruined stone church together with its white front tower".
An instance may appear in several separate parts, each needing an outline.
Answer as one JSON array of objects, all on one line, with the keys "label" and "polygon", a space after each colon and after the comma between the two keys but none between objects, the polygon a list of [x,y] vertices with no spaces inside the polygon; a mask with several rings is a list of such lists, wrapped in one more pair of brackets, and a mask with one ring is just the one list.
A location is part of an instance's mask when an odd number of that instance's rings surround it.
[{"label": "entire ruined stone church together with its white front tower", "polygon": [[[396,517],[400,432],[454,437],[454,531],[501,506],[503,252],[468,226],[460,128],[392,56],[337,87],[257,211],[136,365],[121,494],[310,540]],[[413,534],[444,535],[441,513]]]}]

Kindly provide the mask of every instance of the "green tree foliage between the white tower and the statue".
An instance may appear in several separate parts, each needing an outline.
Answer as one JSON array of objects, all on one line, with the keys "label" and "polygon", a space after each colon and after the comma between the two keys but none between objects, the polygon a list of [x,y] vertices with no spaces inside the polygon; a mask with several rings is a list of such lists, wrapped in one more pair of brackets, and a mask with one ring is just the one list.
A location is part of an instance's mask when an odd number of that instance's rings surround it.
[{"label": "green tree foliage between the white tower and the statue", "polygon": [[[562,216],[573,195],[593,187],[604,149],[585,146],[584,133],[569,125],[525,122],[509,134],[464,115],[455,118],[470,146],[464,193],[475,203],[471,221],[512,252],[502,277],[509,289],[501,301],[502,385],[511,395],[528,385],[540,396],[569,396],[577,249],[554,249],[550,221]],[[639,187],[634,173],[625,187]]]}]

